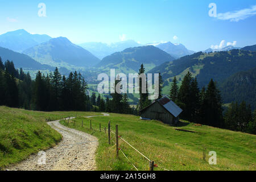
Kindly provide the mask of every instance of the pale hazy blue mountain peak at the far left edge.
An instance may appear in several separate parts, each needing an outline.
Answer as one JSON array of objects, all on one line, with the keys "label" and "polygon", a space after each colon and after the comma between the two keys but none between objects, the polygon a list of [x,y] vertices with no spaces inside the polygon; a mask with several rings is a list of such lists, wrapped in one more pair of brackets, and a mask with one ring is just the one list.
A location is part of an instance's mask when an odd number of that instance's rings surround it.
[{"label": "pale hazy blue mountain peak at the far left edge", "polygon": [[30,34],[26,30],[16,30],[0,35],[0,47],[22,52],[27,48],[47,42],[48,35]]}]

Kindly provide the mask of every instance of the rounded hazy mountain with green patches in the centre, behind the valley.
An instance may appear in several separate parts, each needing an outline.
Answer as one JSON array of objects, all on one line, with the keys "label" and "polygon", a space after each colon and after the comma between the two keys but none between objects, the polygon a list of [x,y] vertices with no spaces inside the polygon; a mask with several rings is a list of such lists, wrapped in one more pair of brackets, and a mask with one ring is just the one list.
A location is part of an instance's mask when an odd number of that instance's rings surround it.
[{"label": "rounded hazy mountain with green patches in the centre, behind the valley", "polygon": [[141,64],[144,64],[146,71],[148,71],[157,65],[172,60],[175,58],[157,47],[141,46],[127,48],[122,52],[115,52],[106,56],[96,67],[101,70],[115,68],[122,73],[137,73]]}]

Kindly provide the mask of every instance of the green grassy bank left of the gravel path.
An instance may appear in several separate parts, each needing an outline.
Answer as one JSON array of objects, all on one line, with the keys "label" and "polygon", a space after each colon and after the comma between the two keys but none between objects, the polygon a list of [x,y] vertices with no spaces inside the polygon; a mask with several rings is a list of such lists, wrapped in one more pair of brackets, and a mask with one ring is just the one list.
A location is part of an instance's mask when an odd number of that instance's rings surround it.
[{"label": "green grassy bank left of the gravel path", "polygon": [[47,113],[0,106],[0,169],[53,147],[61,140],[61,135],[47,125],[46,119],[55,121],[75,115],[76,112]]}]

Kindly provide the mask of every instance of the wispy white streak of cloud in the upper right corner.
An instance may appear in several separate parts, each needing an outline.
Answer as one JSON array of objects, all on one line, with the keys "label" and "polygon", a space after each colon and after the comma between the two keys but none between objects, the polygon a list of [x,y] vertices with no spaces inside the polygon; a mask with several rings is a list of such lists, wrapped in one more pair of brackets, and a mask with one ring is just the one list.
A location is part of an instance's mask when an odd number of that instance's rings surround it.
[{"label": "wispy white streak of cloud in the upper right corner", "polygon": [[247,9],[218,13],[216,18],[221,20],[230,20],[230,22],[238,22],[253,15],[256,15],[256,5]]}]

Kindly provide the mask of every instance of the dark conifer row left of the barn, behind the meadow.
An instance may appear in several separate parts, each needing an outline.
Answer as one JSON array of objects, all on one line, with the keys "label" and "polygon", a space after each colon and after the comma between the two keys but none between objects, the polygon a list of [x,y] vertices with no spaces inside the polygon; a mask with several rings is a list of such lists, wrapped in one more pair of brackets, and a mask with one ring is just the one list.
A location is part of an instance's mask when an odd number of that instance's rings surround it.
[{"label": "dark conifer row left of the barn, behind the meadow", "polygon": [[[116,80],[117,84],[121,80]],[[81,73],[71,72],[66,78],[58,68],[47,75],[40,71],[32,80],[30,73],[15,69],[13,61],[2,63],[0,57],[0,105],[39,111],[106,111],[137,114],[130,107],[127,94],[101,97],[88,93],[88,84]]]}]

